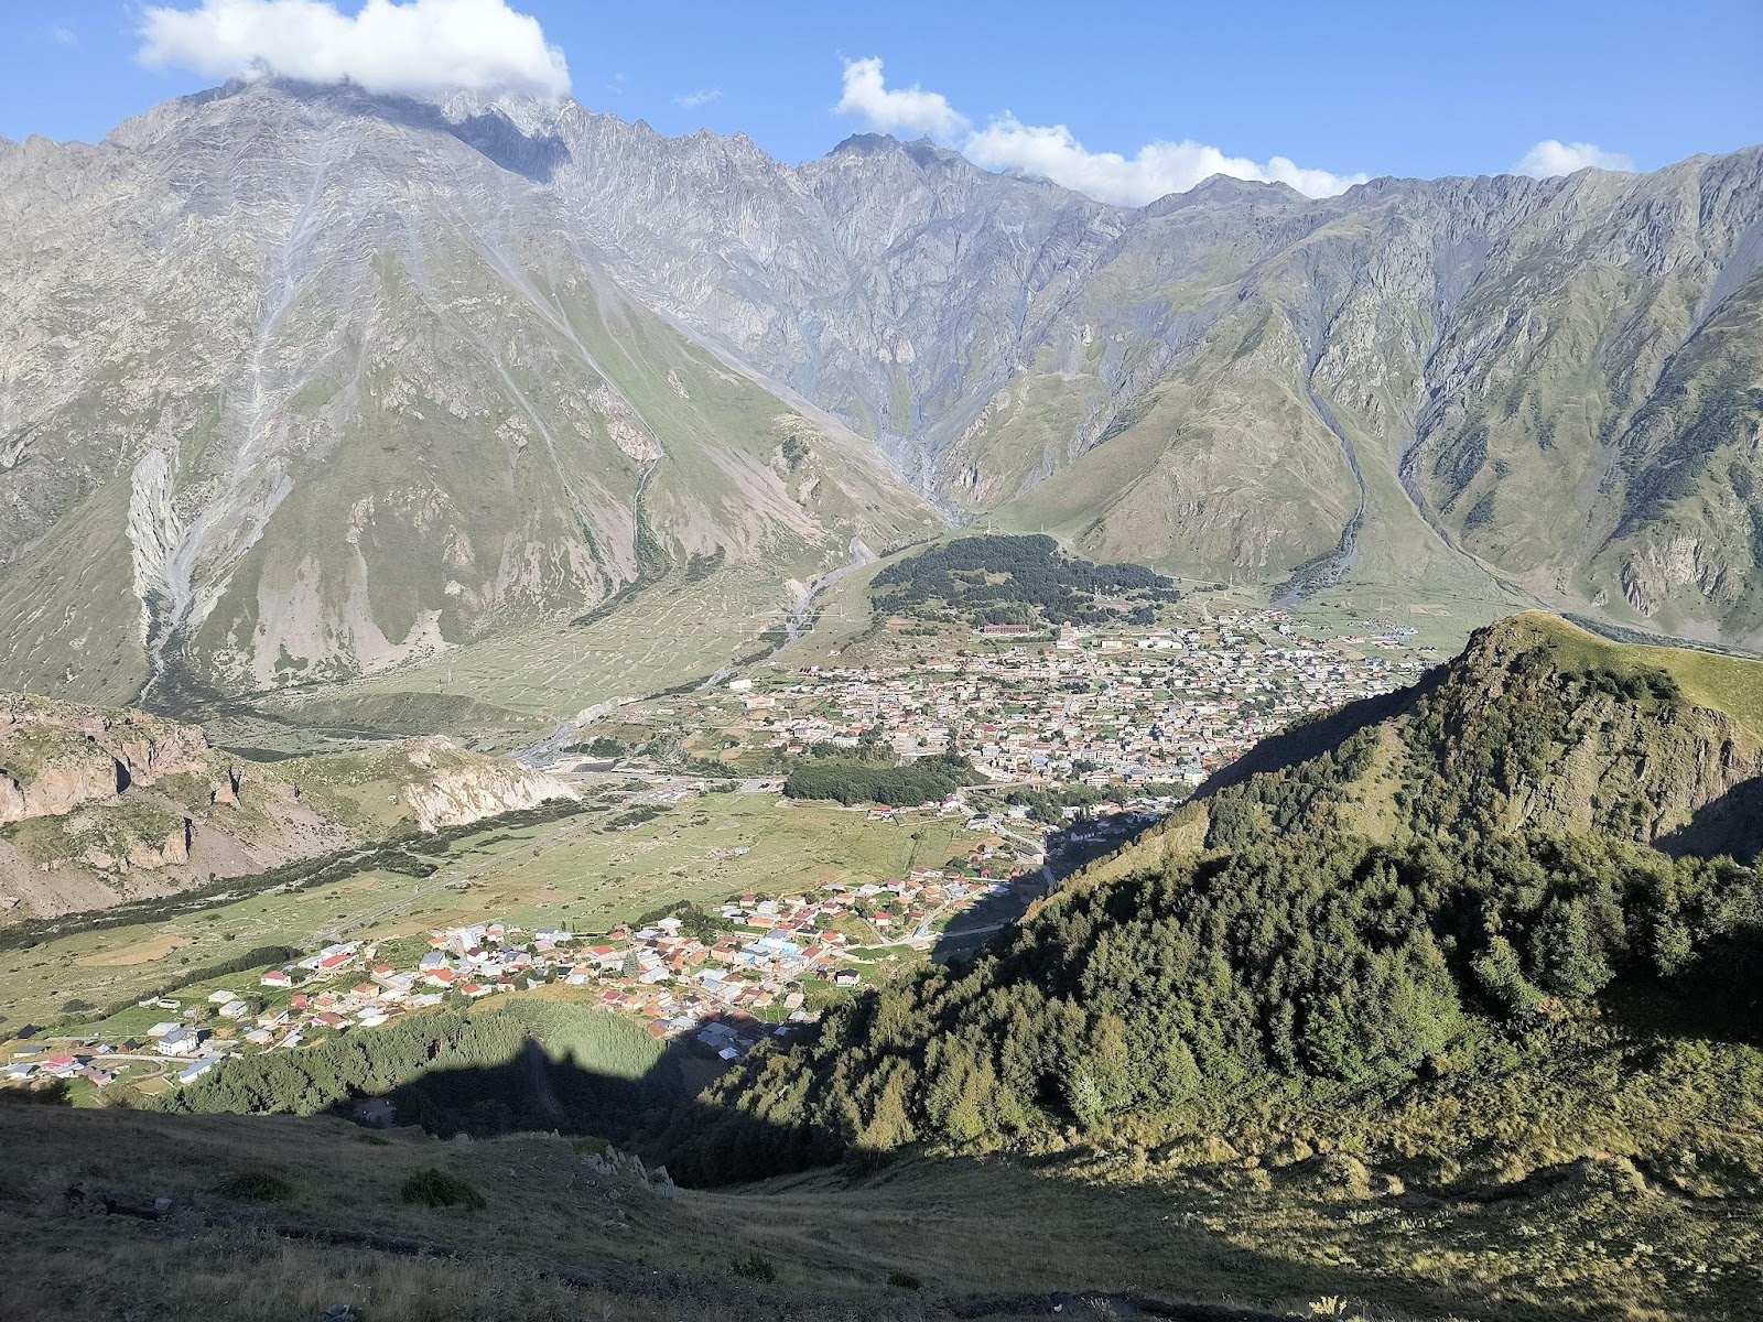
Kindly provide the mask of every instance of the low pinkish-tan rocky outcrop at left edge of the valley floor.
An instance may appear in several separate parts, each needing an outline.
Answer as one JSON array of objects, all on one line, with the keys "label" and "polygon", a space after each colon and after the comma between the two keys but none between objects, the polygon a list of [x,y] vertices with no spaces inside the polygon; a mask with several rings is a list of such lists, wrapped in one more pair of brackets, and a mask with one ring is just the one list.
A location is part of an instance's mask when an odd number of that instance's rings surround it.
[{"label": "low pinkish-tan rocky outcrop at left edge of the valley floor", "polygon": [[0,694],[0,913],[104,908],[573,797],[444,739],[252,763],[197,726]]}]

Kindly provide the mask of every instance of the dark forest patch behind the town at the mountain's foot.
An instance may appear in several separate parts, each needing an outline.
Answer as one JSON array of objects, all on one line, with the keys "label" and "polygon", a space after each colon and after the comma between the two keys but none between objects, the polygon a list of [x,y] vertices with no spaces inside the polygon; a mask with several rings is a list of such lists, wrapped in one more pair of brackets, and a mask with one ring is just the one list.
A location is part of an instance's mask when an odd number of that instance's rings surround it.
[{"label": "dark forest patch behind the town at the mountain's foot", "polygon": [[940,606],[968,624],[1149,624],[1174,583],[1142,564],[1091,564],[1049,536],[957,538],[882,569],[878,613]]}]

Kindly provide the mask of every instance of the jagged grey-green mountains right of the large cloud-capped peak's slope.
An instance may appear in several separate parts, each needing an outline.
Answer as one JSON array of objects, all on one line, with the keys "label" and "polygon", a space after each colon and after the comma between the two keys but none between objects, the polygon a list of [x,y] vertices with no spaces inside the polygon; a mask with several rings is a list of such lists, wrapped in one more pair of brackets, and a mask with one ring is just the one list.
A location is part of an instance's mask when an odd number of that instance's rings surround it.
[{"label": "jagged grey-green mountains right of the large cloud-capped peak's slope", "polygon": [[927,143],[786,169],[534,115],[629,287],[948,508],[1294,594],[1504,580],[1763,636],[1756,148],[1121,210]]}]

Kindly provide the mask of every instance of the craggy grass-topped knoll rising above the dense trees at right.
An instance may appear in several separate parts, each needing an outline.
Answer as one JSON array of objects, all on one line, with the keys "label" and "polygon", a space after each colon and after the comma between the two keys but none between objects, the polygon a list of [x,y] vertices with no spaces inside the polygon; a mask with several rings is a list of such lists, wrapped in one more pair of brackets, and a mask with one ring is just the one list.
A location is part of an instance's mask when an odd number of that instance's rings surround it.
[{"label": "craggy grass-topped knoll rising above the dense trees at right", "polygon": [[1763,848],[1763,665],[1608,643],[1543,613],[1405,693],[1255,747],[1201,791],[1208,844],[1521,827],[1742,860]]}]

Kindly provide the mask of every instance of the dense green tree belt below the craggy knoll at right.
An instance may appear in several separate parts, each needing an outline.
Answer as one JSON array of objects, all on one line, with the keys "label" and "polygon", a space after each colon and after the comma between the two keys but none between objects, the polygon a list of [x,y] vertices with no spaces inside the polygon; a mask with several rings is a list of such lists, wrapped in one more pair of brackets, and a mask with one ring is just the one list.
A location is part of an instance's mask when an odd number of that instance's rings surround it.
[{"label": "dense green tree belt below the craggy knoll at right", "polygon": [[971,968],[927,968],[749,1058],[686,1179],[751,1179],[908,1144],[1199,1132],[1476,1072],[1617,984],[1754,1010],[1763,885],[1731,862],[1596,837],[1257,843],[1079,887]]}]

